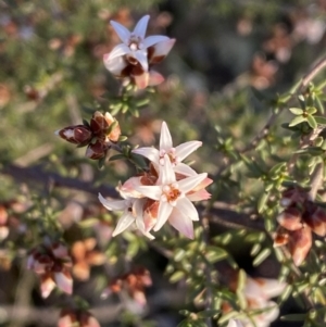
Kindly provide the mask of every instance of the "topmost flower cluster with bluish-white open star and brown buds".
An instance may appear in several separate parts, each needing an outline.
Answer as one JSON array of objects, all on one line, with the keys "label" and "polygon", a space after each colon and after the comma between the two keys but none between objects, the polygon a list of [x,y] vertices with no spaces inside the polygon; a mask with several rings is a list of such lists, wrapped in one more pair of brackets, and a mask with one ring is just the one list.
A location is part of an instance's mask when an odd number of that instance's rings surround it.
[{"label": "topmost flower cluster with bluish-white open star and brown buds", "polygon": [[111,25],[123,41],[104,54],[103,61],[108,71],[115,77],[128,77],[139,89],[162,83],[164,77],[151,67],[160,63],[170,52],[175,39],[155,35],[145,37],[149,15],[143,16],[133,33],[117,22]]}]

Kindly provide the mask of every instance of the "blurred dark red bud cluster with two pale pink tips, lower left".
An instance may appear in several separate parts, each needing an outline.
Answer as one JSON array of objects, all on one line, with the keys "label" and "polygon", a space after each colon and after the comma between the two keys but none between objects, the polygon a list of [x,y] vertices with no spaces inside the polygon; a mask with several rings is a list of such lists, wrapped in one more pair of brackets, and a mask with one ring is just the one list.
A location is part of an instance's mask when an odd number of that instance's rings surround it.
[{"label": "blurred dark red bud cluster with two pale pink tips, lower left", "polygon": [[40,277],[42,298],[48,298],[57,286],[65,293],[73,292],[72,260],[61,242],[46,240],[34,248],[27,257],[27,268]]}]

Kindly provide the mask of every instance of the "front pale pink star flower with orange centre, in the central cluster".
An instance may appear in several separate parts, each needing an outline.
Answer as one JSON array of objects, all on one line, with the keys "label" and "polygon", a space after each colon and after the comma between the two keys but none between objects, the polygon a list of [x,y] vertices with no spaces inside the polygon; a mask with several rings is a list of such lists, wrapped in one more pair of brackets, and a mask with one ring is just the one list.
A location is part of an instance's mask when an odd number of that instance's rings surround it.
[{"label": "front pale pink star flower with orange centre, in the central cluster", "polygon": [[163,160],[156,185],[137,186],[136,190],[149,199],[159,201],[154,231],[161,229],[168,219],[174,228],[188,238],[193,238],[192,221],[199,221],[199,216],[187,193],[204,180],[208,174],[198,174],[176,180],[170,156],[165,154]]}]

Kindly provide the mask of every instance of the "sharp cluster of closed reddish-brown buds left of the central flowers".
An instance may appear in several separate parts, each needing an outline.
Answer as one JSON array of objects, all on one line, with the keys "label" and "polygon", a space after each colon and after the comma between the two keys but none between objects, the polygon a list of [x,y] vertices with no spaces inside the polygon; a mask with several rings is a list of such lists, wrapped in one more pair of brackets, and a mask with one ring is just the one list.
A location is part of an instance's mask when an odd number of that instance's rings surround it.
[{"label": "sharp cluster of closed reddish-brown buds left of the central flowers", "polygon": [[85,155],[99,160],[106,155],[112,142],[118,141],[121,129],[117,121],[110,113],[103,115],[97,111],[89,124],[68,126],[57,130],[55,134],[78,147],[87,146]]}]

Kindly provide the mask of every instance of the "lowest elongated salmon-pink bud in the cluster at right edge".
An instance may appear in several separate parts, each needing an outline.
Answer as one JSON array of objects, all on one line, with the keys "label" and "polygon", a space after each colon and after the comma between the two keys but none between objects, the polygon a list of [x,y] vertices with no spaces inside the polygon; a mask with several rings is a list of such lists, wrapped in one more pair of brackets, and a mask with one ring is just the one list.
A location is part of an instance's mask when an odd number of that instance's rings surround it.
[{"label": "lowest elongated salmon-pink bud in the cluster at right edge", "polygon": [[312,246],[312,232],[310,227],[304,226],[289,235],[289,251],[296,266],[301,265]]}]

